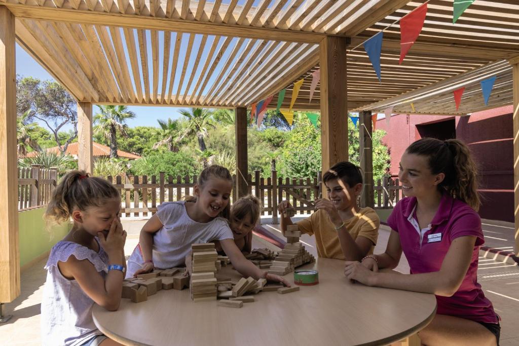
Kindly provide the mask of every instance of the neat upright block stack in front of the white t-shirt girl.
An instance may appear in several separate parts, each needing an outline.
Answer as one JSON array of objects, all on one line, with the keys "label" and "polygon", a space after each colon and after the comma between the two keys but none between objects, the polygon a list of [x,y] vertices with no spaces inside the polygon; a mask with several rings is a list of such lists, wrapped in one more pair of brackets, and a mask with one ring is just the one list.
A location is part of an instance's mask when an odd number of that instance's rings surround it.
[{"label": "neat upright block stack in front of the white t-shirt girl", "polygon": [[214,243],[193,244],[191,245],[193,266],[191,281],[189,287],[191,289],[191,299],[194,302],[216,300],[216,262],[221,265],[218,260],[218,253],[214,248]]}]

